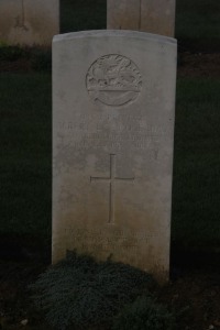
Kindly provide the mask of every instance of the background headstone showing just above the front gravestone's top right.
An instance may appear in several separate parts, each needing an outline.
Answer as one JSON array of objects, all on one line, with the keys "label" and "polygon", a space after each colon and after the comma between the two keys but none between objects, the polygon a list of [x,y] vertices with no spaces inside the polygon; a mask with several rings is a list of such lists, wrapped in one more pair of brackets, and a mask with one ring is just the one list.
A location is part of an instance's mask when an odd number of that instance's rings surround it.
[{"label": "background headstone showing just above the front gravestone's top right", "polygon": [[175,0],[108,0],[107,26],[174,36]]}]

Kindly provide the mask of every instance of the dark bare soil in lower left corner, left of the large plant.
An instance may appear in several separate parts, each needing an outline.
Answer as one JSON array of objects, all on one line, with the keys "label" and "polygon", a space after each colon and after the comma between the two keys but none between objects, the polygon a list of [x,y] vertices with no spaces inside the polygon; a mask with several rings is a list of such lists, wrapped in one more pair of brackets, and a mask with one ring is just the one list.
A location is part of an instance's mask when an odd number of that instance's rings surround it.
[{"label": "dark bare soil in lower left corner, left of the large plant", "polygon": [[[29,285],[46,270],[38,261],[0,261],[0,329],[44,329],[33,308]],[[48,329],[48,328],[45,328]]]}]

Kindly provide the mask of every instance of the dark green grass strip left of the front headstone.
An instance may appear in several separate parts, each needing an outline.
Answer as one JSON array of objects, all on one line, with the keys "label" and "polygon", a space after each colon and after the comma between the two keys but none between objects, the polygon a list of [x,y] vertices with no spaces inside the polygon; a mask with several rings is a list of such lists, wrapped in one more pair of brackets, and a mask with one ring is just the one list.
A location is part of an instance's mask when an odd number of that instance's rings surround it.
[{"label": "dark green grass strip left of the front headstone", "polygon": [[0,75],[1,232],[51,232],[51,75]]}]

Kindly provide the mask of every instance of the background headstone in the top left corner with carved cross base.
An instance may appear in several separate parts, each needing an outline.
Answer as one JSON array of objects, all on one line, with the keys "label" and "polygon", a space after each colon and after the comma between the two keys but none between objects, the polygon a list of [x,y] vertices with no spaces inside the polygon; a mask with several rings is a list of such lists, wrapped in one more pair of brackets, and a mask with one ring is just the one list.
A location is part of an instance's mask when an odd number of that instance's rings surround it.
[{"label": "background headstone in the top left corner with carved cross base", "polygon": [[59,32],[59,0],[1,0],[0,41],[51,46]]}]

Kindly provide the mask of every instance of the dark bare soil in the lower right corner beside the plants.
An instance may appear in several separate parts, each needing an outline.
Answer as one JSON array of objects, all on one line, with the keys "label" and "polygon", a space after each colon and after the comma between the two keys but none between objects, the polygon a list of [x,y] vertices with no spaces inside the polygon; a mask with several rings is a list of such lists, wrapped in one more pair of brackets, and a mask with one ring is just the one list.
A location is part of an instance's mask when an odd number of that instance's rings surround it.
[{"label": "dark bare soil in the lower right corner beside the plants", "polygon": [[[205,265],[204,265],[205,267]],[[220,329],[220,273],[191,270],[161,290],[161,300],[182,311],[178,330]]]}]

